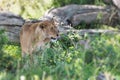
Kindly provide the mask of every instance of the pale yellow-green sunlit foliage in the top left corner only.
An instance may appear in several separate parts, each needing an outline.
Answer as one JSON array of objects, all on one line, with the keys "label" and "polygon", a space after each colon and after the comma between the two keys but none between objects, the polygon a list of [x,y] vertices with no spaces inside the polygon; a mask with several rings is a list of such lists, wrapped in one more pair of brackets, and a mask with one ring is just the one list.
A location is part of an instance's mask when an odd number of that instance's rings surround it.
[{"label": "pale yellow-green sunlit foliage in the top left corner only", "polygon": [[23,18],[40,18],[45,11],[52,7],[52,0],[2,0],[0,7]]}]

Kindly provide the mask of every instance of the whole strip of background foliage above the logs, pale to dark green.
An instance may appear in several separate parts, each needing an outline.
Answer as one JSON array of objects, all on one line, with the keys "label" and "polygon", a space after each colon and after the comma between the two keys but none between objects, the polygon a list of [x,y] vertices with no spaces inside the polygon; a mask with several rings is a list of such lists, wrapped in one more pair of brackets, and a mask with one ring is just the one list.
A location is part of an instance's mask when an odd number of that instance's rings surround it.
[{"label": "whole strip of background foliage above the logs, pale to dark green", "polygon": [[1,0],[0,8],[21,15],[25,19],[39,19],[45,11],[68,4],[103,5],[102,0]]}]

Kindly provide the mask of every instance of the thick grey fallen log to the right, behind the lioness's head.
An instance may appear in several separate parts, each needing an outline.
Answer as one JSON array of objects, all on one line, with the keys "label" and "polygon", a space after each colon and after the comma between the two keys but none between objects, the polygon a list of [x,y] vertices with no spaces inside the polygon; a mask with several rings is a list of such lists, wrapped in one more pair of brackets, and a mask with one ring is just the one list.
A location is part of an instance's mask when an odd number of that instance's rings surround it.
[{"label": "thick grey fallen log to the right, behind the lioness's head", "polygon": [[[111,21],[116,22],[119,20],[118,12],[113,15],[112,7],[102,7],[95,5],[67,5],[59,8],[53,8],[45,13],[41,18],[51,19],[55,17],[56,21],[60,25],[77,26],[78,24],[85,22],[86,24],[97,22],[101,24],[109,24]],[[116,18],[114,18],[116,17]],[[114,22],[112,22],[114,24]]]}]

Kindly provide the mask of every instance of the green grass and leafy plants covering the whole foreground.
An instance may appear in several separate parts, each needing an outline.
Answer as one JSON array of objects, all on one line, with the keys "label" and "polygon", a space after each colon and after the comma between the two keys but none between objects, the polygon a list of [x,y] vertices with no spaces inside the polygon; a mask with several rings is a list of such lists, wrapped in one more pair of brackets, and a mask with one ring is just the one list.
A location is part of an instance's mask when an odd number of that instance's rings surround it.
[{"label": "green grass and leafy plants covering the whole foreground", "polygon": [[[85,49],[79,40],[90,40]],[[49,43],[44,50],[34,54],[34,63],[29,56],[20,56],[20,47],[3,45],[0,61],[0,80],[95,80],[100,72],[110,72],[119,80],[120,34],[79,36],[61,35],[56,43]],[[8,57],[9,56],[9,57]],[[4,60],[6,61],[4,61]]]}]

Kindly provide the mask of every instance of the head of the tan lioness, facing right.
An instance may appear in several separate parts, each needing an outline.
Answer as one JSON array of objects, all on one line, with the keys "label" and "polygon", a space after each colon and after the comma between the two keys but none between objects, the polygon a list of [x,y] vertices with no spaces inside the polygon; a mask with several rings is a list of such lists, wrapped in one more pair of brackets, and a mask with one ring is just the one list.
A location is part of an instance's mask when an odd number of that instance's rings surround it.
[{"label": "head of the tan lioness, facing right", "polygon": [[44,38],[49,38],[51,41],[59,38],[59,30],[55,25],[54,20],[46,20],[38,23],[36,33],[37,35],[42,35]]}]

